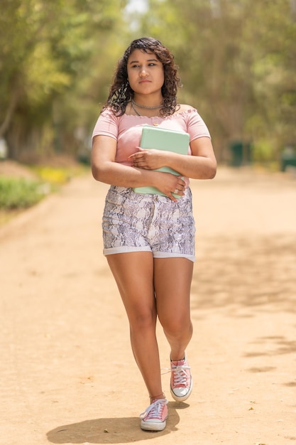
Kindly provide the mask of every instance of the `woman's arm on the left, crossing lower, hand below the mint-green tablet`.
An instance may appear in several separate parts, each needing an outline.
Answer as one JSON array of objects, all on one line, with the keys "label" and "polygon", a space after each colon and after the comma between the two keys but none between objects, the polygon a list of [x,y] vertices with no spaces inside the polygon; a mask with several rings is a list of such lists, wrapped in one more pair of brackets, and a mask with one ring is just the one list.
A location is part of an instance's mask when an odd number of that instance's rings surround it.
[{"label": "woman's arm on the left, crossing lower, hand below the mint-green tablet", "polygon": [[115,162],[116,144],[116,139],[109,136],[94,136],[91,161],[92,175],[97,181],[120,187],[153,186],[172,200],[176,188],[183,195],[185,181],[178,176]]}]

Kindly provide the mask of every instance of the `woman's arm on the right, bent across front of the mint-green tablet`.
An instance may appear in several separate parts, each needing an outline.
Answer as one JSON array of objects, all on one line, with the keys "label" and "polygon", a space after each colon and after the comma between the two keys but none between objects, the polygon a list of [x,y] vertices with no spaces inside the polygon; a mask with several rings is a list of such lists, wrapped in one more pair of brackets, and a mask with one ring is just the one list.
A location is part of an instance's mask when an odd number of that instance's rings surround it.
[{"label": "woman's arm on the right, bent across front of the mint-green tablet", "polygon": [[216,158],[209,137],[200,137],[190,142],[192,156],[172,151],[140,150],[130,156],[133,166],[155,169],[168,166],[181,175],[194,179],[212,179],[216,175]]}]

